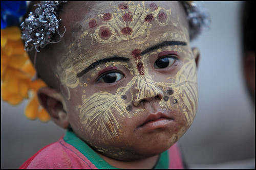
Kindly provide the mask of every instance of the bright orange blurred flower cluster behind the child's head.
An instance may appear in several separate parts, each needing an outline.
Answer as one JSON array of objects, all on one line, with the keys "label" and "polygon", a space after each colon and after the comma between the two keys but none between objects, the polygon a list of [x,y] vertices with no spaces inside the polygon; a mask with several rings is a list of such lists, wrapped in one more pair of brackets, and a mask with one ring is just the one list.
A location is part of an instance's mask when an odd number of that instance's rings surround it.
[{"label": "bright orange blurred flower cluster behind the child's head", "polygon": [[[41,79],[31,81],[36,71],[29,60],[18,27],[1,29],[1,95],[11,105],[29,99],[25,115],[47,122],[50,115],[38,102],[36,91],[46,86]],[[29,92],[31,94],[29,95]]]}]

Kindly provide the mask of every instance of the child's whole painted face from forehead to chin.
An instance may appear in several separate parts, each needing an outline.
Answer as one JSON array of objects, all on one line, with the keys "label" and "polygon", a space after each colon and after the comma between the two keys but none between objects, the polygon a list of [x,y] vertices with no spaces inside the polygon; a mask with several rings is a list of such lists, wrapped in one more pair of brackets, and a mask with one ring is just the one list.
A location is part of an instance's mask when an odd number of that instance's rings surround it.
[{"label": "child's whole painted face from forehead to chin", "polygon": [[198,104],[182,6],[79,3],[59,16],[67,32],[56,75],[71,127],[119,160],[167,150],[189,128]]}]

